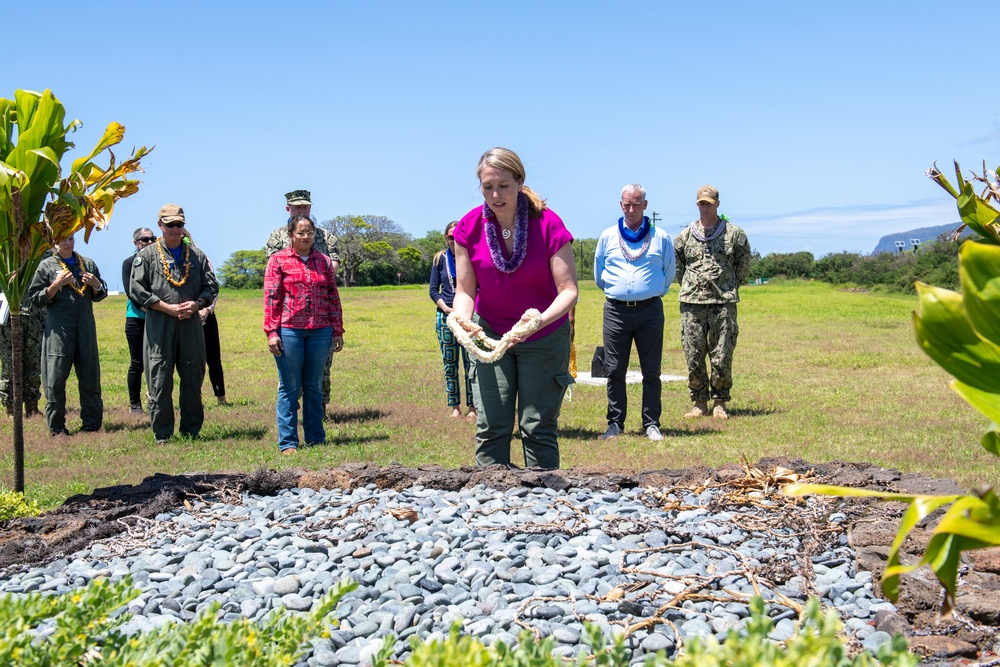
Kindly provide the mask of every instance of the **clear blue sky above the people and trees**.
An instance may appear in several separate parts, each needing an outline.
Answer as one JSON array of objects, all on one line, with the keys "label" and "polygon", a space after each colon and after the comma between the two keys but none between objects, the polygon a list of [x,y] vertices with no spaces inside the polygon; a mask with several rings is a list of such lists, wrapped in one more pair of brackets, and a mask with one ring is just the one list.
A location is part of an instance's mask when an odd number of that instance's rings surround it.
[{"label": "clear blue sky above the people and trees", "polygon": [[632,181],[675,235],[710,183],[763,254],[870,252],[957,221],[933,162],[1000,161],[995,32],[949,6],[22,3],[0,95],[52,89],[81,150],[111,121],[119,154],[156,145],[140,192],[78,243],[112,289],[165,203],[216,266],[263,247],[296,188],[321,220],[420,237],[481,201],[476,161],[498,145],[577,238],[617,220]]}]

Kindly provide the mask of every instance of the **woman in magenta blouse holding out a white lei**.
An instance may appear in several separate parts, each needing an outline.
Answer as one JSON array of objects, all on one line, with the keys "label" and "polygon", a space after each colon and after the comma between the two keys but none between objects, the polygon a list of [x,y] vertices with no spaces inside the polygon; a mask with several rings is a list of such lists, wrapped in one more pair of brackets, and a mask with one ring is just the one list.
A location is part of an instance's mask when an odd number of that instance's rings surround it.
[{"label": "woman in magenta blouse holding out a white lei", "polygon": [[476,174],[485,202],[455,228],[454,309],[491,338],[507,333],[529,308],[542,314],[539,330],[516,340],[499,361],[472,364],[476,463],[511,463],[516,405],[525,465],[558,468],[559,410],[573,382],[567,317],[577,299],[573,237],[524,184],[524,165],[513,151],[488,150]]}]

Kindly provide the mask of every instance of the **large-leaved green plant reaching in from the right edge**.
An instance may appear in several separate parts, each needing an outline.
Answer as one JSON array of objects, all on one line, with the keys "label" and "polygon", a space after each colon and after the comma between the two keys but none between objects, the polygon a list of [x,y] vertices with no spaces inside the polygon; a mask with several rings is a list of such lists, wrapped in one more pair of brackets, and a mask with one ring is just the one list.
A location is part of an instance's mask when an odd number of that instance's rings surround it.
[{"label": "large-leaved green plant reaching in from the right edge", "polygon": [[[1000,204],[1000,183],[996,171],[986,169],[985,164],[982,176],[965,180],[956,162],[957,188],[936,166],[927,174],[957,200],[964,224],[955,236],[967,226],[981,238],[965,241],[959,251],[961,294],[917,283],[919,301],[913,313],[917,342],[954,376],[952,389],[989,418],[981,444],[1000,456],[1000,211],[991,204]],[[983,186],[978,194],[976,183]],[[964,496],[905,495],[815,484],[793,484],[785,492],[869,496],[909,503],[889,553],[882,591],[896,600],[899,576],[927,565],[945,589],[943,614],[951,611],[955,601],[962,552],[1000,545],[1000,499],[992,487]],[[929,514],[945,507],[947,511],[935,526],[920,562],[902,565],[899,549],[906,536]]]}]

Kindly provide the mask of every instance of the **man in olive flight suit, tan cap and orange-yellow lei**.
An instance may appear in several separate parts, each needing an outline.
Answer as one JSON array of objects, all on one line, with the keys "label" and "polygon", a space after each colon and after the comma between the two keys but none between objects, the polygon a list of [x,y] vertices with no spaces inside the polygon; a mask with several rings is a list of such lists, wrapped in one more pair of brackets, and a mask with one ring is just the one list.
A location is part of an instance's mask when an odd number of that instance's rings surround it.
[{"label": "man in olive flight suit, tan cap and orange-yellow lei", "polygon": [[160,239],[133,261],[129,298],[146,309],[143,356],[149,390],[149,421],[157,445],[174,434],[174,369],[180,378],[181,435],[198,437],[205,421],[205,332],[198,311],[219,293],[208,258],[184,243],[184,209],[160,209]]}]

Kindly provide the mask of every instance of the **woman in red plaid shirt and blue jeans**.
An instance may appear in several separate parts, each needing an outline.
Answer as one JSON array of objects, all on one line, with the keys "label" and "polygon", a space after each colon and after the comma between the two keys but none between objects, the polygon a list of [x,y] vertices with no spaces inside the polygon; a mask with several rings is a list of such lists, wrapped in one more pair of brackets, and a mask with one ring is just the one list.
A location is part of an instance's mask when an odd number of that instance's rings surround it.
[{"label": "woman in red plaid shirt and blue jeans", "polygon": [[344,318],[333,264],[313,249],[315,224],[297,215],[287,229],[292,245],[271,255],[264,274],[264,333],[278,364],[278,449],[294,454],[300,394],[305,444],[326,442],[323,372],[330,346],[344,347]]}]

